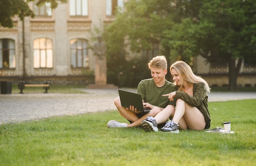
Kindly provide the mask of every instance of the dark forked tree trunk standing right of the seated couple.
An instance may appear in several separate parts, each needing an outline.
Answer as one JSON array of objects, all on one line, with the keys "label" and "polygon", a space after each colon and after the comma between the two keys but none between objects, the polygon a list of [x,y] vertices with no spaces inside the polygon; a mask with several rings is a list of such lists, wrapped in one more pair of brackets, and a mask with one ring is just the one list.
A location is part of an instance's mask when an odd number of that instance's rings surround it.
[{"label": "dark forked tree trunk standing right of the seated couple", "polygon": [[236,59],[231,59],[229,61],[229,90],[235,91],[237,89],[237,77],[242,65],[242,58],[239,58],[236,65]]}]

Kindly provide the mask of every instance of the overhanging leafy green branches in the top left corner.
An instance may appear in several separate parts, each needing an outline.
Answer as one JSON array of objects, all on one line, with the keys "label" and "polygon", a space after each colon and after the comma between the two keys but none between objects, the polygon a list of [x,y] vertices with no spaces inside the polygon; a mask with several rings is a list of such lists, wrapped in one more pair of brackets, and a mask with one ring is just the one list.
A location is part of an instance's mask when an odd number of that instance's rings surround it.
[{"label": "overhanging leafy green branches in the top left corner", "polygon": [[[13,27],[12,18],[16,15],[23,20],[24,17],[34,18],[34,13],[29,9],[28,3],[34,0],[0,0],[0,25],[2,27]],[[67,0],[39,0],[36,5],[41,6],[45,2],[51,3],[51,8],[55,9],[59,2]]]}]

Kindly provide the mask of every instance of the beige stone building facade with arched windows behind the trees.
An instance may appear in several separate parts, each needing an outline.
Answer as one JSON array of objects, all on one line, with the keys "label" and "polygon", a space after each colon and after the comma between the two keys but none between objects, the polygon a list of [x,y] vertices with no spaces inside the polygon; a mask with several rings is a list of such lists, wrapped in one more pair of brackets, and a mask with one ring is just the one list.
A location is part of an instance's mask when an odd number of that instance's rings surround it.
[{"label": "beige stone building facade with arched windows behind the trees", "polygon": [[[115,20],[115,7],[124,7],[126,1],[68,0],[53,11],[49,4],[29,2],[35,18],[22,22],[15,17],[13,28],[0,27],[0,81],[94,83],[90,30]],[[212,67],[200,56],[193,60],[193,71],[211,86],[228,84],[228,68]],[[242,67],[238,85],[256,86],[255,65]]]}]

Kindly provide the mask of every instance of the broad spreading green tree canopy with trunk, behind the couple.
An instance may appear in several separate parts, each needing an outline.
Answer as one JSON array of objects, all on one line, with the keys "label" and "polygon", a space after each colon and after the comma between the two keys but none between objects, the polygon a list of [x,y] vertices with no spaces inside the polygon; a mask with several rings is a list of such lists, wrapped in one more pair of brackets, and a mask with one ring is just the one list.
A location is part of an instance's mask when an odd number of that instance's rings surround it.
[{"label": "broad spreading green tree canopy with trunk, behind the couple", "polygon": [[243,58],[255,57],[255,0],[129,0],[125,7],[106,33],[121,33],[133,52],[159,42],[173,60],[201,55],[227,64],[229,90],[236,90]]}]

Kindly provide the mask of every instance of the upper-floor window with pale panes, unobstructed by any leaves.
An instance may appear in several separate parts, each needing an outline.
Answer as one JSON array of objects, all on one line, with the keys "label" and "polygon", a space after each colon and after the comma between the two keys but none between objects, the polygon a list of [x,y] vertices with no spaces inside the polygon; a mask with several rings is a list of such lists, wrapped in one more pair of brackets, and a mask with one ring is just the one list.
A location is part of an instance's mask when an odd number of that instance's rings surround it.
[{"label": "upper-floor window with pale panes, unobstructed by any leaves", "polygon": [[88,16],[88,0],[70,0],[70,16]]}]

